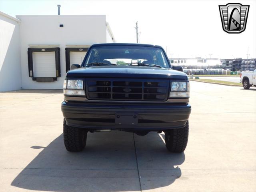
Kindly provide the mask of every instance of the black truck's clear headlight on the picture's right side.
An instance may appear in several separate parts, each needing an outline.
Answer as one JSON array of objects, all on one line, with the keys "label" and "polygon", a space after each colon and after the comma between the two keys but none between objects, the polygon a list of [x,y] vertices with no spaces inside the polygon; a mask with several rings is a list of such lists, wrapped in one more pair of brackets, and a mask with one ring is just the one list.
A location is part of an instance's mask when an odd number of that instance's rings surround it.
[{"label": "black truck's clear headlight on the picture's right side", "polygon": [[172,97],[189,97],[190,96],[190,84],[189,82],[176,82],[171,84],[170,98]]}]

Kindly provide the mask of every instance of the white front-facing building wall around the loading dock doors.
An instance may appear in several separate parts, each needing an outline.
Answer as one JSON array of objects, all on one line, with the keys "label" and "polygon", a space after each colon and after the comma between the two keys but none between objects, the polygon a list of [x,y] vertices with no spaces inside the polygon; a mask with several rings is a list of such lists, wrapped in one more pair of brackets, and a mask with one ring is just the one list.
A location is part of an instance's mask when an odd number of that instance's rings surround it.
[{"label": "white front-facing building wall around the loading dock doors", "polygon": [[[66,44],[106,43],[105,15],[54,15],[16,16],[20,23],[20,55],[22,89],[60,89],[66,75]],[[59,27],[63,24],[64,27]],[[1,31],[2,34],[2,31]],[[53,46],[28,46],[30,44],[58,44],[60,47],[61,77],[54,82],[36,82],[28,76],[28,48],[50,48]],[[54,46],[56,47],[56,46]]]}]

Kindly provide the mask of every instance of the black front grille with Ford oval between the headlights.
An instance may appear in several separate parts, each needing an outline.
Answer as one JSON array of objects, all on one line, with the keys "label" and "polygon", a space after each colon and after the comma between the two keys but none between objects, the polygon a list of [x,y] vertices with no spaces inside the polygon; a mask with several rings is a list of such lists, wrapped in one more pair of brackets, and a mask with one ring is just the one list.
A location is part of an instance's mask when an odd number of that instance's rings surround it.
[{"label": "black front grille with Ford oval between the headlights", "polygon": [[169,80],[86,78],[89,100],[166,101]]}]

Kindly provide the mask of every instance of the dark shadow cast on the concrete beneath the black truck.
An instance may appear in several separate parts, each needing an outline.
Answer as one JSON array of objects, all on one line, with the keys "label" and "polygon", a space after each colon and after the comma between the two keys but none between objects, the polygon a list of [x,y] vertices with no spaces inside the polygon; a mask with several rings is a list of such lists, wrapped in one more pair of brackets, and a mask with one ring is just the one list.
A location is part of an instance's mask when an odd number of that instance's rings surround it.
[{"label": "dark shadow cast on the concrete beneath the black truck", "polygon": [[87,138],[85,150],[78,153],[66,151],[62,135],[46,147],[32,146],[44,149],[12,186],[62,192],[140,191],[168,186],[181,176],[180,168],[174,166],[184,162],[184,153],[169,153],[156,132],[146,136],[88,133]]}]

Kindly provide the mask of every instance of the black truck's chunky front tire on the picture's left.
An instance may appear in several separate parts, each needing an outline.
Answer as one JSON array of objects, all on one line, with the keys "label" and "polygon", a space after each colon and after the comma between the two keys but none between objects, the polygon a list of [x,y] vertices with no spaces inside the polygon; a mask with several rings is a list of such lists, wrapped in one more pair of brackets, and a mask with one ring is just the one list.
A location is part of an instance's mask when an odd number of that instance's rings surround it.
[{"label": "black truck's chunky front tire on the picture's left", "polygon": [[87,130],[68,126],[63,120],[63,138],[66,150],[70,152],[82,151],[86,145]]}]

